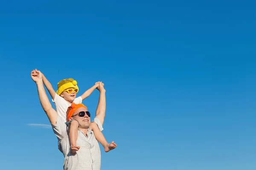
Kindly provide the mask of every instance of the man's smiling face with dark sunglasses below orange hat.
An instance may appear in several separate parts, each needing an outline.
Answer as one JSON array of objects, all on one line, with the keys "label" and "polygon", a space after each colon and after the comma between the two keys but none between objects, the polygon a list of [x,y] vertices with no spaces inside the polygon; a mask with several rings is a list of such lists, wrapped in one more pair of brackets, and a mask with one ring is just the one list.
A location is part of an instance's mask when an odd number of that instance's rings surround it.
[{"label": "man's smiling face with dark sunglasses below orange hat", "polygon": [[[83,117],[79,116],[79,112],[87,111],[87,108],[81,107],[78,108],[74,113],[72,119],[76,119],[79,122],[79,127],[87,129],[90,126],[90,117],[85,113]],[[77,115],[78,114],[78,115]],[[74,116],[76,115],[76,116]]]}]

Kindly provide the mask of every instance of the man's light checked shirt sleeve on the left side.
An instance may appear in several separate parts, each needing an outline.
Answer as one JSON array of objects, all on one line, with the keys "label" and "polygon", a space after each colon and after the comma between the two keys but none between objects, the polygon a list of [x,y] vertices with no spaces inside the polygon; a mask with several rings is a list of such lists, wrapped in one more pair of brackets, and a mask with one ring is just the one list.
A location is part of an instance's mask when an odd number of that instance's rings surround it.
[{"label": "man's light checked shirt sleeve on the left side", "polygon": [[56,124],[52,125],[52,130],[57,136],[58,140],[61,140],[65,136],[67,136],[67,125],[66,122],[61,118],[61,116],[58,115]]}]

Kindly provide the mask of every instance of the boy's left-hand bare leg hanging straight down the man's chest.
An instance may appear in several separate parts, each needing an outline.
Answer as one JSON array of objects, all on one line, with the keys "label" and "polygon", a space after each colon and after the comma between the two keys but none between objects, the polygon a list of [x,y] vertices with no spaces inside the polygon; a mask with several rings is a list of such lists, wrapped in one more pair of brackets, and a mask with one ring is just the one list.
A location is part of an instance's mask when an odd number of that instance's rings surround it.
[{"label": "boy's left-hand bare leg hanging straight down the man's chest", "polygon": [[69,139],[70,139],[71,154],[76,153],[76,151],[80,149],[80,146],[76,146],[78,127],[79,127],[79,123],[77,120],[73,120],[72,122],[70,122]]}]

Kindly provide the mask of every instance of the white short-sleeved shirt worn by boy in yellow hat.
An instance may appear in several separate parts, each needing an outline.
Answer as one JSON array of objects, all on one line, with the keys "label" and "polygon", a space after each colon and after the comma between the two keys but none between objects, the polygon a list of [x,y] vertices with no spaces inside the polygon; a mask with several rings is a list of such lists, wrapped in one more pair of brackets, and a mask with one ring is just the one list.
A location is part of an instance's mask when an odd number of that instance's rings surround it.
[{"label": "white short-sleeved shirt worn by boy in yellow hat", "polygon": [[[56,112],[59,116],[65,121],[67,121],[67,108],[71,106],[70,103],[68,103],[63,97],[59,96],[55,93],[54,100],[52,99],[52,102],[54,102]],[[76,105],[82,103],[81,96],[77,97],[73,101]]]}]

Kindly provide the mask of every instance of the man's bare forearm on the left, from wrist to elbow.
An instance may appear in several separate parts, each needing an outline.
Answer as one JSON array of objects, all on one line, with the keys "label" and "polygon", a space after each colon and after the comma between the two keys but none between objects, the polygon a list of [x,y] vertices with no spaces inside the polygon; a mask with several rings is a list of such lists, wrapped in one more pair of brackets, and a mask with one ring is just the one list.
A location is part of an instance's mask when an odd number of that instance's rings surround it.
[{"label": "man's bare forearm on the left, from wrist to elbow", "polygon": [[49,111],[52,108],[52,105],[49,102],[49,99],[44,90],[43,81],[37,82],[36,86],[38,88],[38,96],[39,96],[39,100],[40,100],[42,108],[44,109],[45,112]]}]

